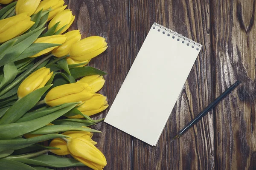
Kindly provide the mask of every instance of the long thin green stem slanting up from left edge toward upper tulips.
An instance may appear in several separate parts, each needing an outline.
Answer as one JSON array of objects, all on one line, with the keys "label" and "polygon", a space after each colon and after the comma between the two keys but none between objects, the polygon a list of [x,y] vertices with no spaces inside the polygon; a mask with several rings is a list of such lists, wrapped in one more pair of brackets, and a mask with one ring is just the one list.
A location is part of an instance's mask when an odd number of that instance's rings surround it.
[{"label": "long thin green stem slanting up from left edge toward upper tulips", "polygon": [[40,61],[36,62],[32,68],[29,68],[28,70],[26,70],[23,74],[21,74],[19,77],[17,77],[11,84],[9,84],[8,86],[6,86],[6,88],[4,88],[1,92],[0,92],[0,96],[2,96],[3,94],[5,94],[7,91],[11,90],[15,85],[17,85],[19,82],[21,82],[26,76],[28,76],[33,70],[35,70],[35,68],[37,68],[39,65],[41,65],[45,60],[47,60],[48,58],[52,57],[52,54],[49,54],[48,56],[44,57],[43,59],[41,59]]}]

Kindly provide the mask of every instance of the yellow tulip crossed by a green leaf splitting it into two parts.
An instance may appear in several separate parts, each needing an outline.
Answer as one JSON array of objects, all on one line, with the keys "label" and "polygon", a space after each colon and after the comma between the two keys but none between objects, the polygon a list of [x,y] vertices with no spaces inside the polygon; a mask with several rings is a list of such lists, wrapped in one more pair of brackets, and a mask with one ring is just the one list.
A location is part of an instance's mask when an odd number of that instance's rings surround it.
[{"label": "yellow tulip crossed by a green leaf splitting it into two parts", "polygon": [[[65,35],[52,35],[52,36],[38,38],[33,43],[63,44],[66,40],[67,40],[67,37]],[[31,56],[31,58],[32,57],[38,57],[38,56],[41,56],[43,54],[46,54],[46,53],[52,51],[56,47],[58,47],[58,46],[44,49],[43,51],[40,51],[38,54],[35,54],[35,55]]]}]

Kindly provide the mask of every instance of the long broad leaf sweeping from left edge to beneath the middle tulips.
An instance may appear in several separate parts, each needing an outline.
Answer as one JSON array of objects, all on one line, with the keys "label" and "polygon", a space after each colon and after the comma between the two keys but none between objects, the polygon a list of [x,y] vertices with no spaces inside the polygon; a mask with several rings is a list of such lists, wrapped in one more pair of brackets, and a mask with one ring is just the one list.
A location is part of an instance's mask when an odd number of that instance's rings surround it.
[{"label": "long broad leaf sweeping from left edge to beneath the middle tulips", "polygon": [[[65,108],[61,108],[51,114],[26,122],[10,123],[5,125],[2,124],[0,125],[0,139],[13,139],[15,137],[37,130],[38,128],[44,127],[58,117],[62,116],[64,113],[70,111],[77,104],[78,103],[67,103],[65,104]],[[17,127],[19,127],[19,130],[17,130]]]}]

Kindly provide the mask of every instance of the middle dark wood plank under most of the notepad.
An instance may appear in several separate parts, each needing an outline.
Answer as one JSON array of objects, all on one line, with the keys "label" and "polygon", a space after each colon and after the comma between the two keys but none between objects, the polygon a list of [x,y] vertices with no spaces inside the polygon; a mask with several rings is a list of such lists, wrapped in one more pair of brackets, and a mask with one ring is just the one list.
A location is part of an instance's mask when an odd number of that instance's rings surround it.
[{"label": "middle dark wood plank under most of the notepad", "polygon": [[201,42],[203,49],[157,146],[134,139],[134,170],[213,169],[212,114],[170,143],[177,131],[212,101],[209,4],[203,0],[131,0],[132,62],[154,22]]}]

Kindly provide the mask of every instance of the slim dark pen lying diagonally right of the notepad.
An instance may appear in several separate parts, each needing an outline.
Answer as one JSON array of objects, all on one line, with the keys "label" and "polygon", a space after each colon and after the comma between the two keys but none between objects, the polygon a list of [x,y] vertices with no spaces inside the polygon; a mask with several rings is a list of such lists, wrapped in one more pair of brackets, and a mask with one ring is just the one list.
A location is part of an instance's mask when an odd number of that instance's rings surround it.
[{"label": "slim dark pen lying diagonally right of the notepad", "polygon": [[175,139],[179,138],[183,135],[190,127],[195,125],[202,117],[206,115],[212,108],[214,108],[218,103],[224,99],[228,94],[230,94],[238,85],[240,84],[239,81],[236,81],[233,85],[231,85],[226,91],[224,91],[220,96],[218,96],[211,104],[209,104],[201,113],[199,113],[192,121],[190,121],[183,129],[181,129],[177,135],[171,140],[174,141]]}]

